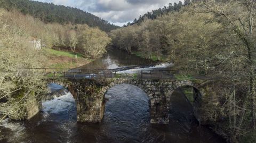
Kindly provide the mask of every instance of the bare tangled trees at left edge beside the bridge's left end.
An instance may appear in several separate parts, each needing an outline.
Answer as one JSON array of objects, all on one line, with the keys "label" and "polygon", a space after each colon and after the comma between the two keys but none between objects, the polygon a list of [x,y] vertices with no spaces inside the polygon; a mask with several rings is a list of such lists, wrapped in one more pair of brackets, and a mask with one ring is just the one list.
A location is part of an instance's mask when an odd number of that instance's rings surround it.
[{"label": "bare tangled trees at left edge beside the bridge's left end", "polygon": [[27,101],[42,93],[45,84],[41,74],[31,71],[27,75],[19,68],[41,65],[43,57],[29,45],[29,31],[26,27],[11,22],[8,22],[10,27],[5,27],[7,22],[0,16],[0,99],[4,99],[0,103],[0,113],[1,117],[23,119]]}]

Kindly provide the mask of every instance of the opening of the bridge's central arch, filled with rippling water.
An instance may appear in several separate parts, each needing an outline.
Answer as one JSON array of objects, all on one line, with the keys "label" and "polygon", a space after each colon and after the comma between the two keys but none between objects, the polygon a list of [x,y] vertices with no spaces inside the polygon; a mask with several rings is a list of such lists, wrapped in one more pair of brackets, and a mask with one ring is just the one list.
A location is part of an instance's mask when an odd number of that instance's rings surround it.
[{"label": "opening of the bridge's central arch, filled with rippling water", "polygon": [[[147,113],[147,115],[150,115],[150,97],[145,92],[145,90],[127,82],[121,82],[112,85],[113,86],[110,86],[107,89],[103,97],[104,108],[102,109],[102,117],[106,117],[106,115],[109,115],[108,111],[118,111],[120,110],[120,108],[122,108],[122,112],[119,111],[118,116],[121,120],[124,121],[126,120],[126,118],[129,118],[130,115],[137,114],[137,120],[139,120],[140,117],[145,116],[145,113]],[[137,102],[139,102],[140,104],[134,104]],[[134,114],[133,111],[140,112]],[[113,114],[116,113],[117,112],[113,112]]]}]

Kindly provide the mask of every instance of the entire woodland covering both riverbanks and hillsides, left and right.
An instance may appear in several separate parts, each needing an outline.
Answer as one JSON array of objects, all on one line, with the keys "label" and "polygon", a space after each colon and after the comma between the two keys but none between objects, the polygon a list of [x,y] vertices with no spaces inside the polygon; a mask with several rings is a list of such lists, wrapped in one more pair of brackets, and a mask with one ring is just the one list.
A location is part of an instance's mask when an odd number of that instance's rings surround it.
[{"label": "entire woodland covering both riverbanks and hillsides, left and right", "polygon": [[27,100],[46,91],[41,74],[22,70],[46,67],[49,58],[29,41],[92,60],[111,44],[127,55],[173,62],[173,69],[221,77],[223,94],[202,108],[205,124],[229,142],[256,141],[254,0],[170,4],[118,29],[72,7],[28,0],[4,0],[0,6],[0,120],[24,119]]}]

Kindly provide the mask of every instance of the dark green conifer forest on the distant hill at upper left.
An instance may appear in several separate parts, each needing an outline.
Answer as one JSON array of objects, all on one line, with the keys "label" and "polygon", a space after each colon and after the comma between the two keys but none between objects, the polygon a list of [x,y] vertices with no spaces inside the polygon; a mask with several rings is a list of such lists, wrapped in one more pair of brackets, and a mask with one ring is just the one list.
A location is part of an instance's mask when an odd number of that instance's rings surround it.
[{"label": "dark green conifer forest on the distant hill at upper left", "polygon": [[29,0],[1,0],[0,7],[8,11],[19,10],[23,14],[30,14],[46,23],[87,24],[90,27],[99,27],[103,31],[118,28],[98,16],[69,6]]}]

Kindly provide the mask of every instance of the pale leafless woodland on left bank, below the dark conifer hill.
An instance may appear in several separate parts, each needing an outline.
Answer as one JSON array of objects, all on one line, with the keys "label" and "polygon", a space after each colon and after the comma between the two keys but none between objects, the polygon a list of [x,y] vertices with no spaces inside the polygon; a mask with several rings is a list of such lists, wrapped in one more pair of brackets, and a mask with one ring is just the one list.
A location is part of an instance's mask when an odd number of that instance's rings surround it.
[{"label": "pale leafless woodland on left bank, below the dark conifer hill", "polygon": [[[41,50],[30,43],[34,39],[42,41]],[[25,69],[49,68],[52,53],[46,49],[67,49],[95,59],[106,52],[110,40],[106,32],[86,24],[45,23],[16,10],[0,9],[0,121],[6,116],[24,119],[27,101],[47,91],[45,77]]]}]

